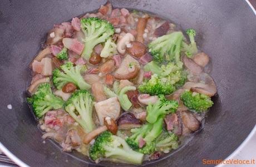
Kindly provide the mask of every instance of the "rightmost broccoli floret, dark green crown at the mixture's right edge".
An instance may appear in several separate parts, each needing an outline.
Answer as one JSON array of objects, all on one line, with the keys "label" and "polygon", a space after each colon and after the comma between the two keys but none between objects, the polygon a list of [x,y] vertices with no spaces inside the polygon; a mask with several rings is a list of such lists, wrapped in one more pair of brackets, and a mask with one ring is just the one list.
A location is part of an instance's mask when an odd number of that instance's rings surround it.
[{"label": "rightmost broccoli floret, dark green crown at the mixture's right edge", "polygon": [[213,102],[207,95],[196,92],[185,91],[181,94],[180,99],[188,109],[198,113],[204,112],[213,106]]}]

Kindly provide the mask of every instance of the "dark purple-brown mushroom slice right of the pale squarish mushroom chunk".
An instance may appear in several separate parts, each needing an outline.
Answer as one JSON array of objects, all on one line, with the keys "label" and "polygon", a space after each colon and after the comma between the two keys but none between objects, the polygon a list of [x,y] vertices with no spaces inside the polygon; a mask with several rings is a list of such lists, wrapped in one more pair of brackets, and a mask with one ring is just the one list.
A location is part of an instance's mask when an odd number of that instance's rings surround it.
[{"label": "dark purple-brown mushroom slice right of the pale squarish mushroom chunk", "polygon": [[117,125],[120,129],[138,128],[141,126],[141,121],[132,113],[124,113],[117,120]]}]

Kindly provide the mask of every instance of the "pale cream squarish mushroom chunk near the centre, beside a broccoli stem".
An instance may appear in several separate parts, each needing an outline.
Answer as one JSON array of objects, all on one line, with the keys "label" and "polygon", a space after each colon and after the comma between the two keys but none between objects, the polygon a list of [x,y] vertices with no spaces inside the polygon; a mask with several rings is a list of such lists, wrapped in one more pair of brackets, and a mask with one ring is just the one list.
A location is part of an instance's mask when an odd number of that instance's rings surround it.
[{"label": "pale cream squarish mushroom chunk near the centre, beside a broccoli stem", "polygon": [[121,112],[120,104],[117,97],[109,98],[96,103],[95,109],[101,125],[104,125],[105,117],[110,117],[116,120]]}]

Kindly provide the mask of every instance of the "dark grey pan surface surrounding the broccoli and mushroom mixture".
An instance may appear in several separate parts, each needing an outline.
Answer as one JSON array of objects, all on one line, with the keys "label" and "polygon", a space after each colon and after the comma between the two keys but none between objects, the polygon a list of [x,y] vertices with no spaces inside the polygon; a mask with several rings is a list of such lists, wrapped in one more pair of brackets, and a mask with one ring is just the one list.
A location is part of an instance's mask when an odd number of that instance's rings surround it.
[{"label": "dark grey pan surface surrounding the broccoli and mushroom mixture", "polygon": [[[25,102],[28,64],[55,23],[99,8],[106,1],[0,1],[0,141],[30,166],[94,166],[78,153],[62,153],[41,131]],[[199,47],[210,55],[218,87],[204,129],[172,155],[148,166],[204,166],[202,159],[224,159],[256,123],[256,21],[245,1],[112,1],[114,7],[142,9],[195,28]],[[7,105],[13,109],[8,110]],[[150,165],[149,165],[150,164]],[[106,166],[130,166],[101,163]]]}]

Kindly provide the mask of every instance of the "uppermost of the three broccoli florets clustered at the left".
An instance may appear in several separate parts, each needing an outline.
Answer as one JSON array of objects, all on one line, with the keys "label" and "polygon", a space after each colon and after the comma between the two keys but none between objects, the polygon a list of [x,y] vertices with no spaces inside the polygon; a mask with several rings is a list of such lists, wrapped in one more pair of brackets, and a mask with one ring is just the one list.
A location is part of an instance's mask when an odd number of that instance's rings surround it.
[{"label": "uppermost of the three broccoli florets clustered at the left", "polygon": [[91,85],[87,84],[83,79],[81,72],[86,68],[85,65],[76,65],[73,67],[71,62],[67,62],[66,64],[61,65],[60,69],[56,68],[52,72],[52,82],[57,89],[61,89],[63,85],[68,82],[72,82],[80,89],[90,89]]}]

